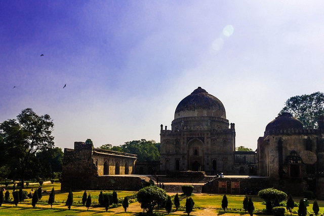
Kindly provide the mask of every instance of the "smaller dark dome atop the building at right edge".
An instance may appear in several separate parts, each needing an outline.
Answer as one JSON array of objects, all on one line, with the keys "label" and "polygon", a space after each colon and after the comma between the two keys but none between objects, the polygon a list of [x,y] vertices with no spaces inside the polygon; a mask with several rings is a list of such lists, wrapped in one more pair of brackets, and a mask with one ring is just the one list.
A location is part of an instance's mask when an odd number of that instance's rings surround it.
[{"label": "smaller dark dome atop the building at right edge", "polygon": [[303,129],[303,123],[290,113],[282,113],[266,126],[265,131],[288,129]]}]

